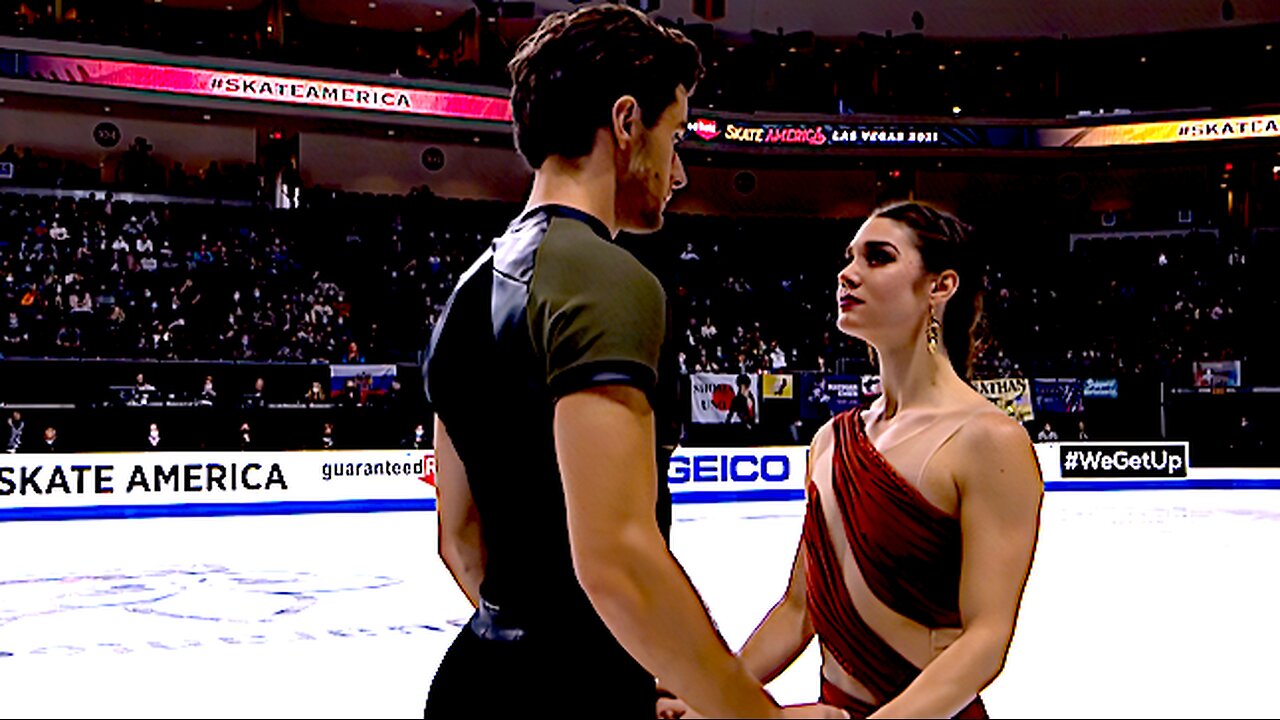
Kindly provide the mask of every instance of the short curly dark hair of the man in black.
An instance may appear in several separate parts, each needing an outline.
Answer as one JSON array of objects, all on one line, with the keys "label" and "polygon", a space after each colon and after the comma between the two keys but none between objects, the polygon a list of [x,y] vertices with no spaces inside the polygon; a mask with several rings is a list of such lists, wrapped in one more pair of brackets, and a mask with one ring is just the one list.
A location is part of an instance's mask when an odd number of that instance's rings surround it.
[{"label": "short curly dark hair of the man in black", "polygon": [[548,155],[581,158],[609,127],[618,97],[640,105],[652,128],[703,77],[701,53],[678,29],[627,5],[593,5],[548,15],[508,63],[516,149],[534,169]]}]

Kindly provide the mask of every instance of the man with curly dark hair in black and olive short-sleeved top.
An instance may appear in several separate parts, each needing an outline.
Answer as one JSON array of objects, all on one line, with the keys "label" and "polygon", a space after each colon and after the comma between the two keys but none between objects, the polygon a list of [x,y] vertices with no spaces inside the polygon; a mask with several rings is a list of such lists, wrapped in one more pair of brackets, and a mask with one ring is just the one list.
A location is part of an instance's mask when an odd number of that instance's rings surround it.
[{"label": "man with curly dark hair in black and olive short-sleeved top", "polygon": [[699,50],[593,5],[549,15],[509,68],[532,190],[453,290],[424,366],[439,552],[476,607],[425,715],[654,717],[655,676],[708,715],[780,715],[668,548],[667,297],[614,243],[660,228],[686,182]]}]

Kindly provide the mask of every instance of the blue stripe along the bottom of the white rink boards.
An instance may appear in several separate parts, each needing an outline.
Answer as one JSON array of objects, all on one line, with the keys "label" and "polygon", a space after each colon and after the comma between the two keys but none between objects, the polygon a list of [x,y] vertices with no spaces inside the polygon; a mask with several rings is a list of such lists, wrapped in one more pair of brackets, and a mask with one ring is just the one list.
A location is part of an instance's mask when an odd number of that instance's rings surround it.
[{"label": "blue stripe along the bottom of the white rink boards", "polygon": [[[1169,480],[1048,480],[1050,492],[1103,492],[1143,489],[1280,489],[1280,478],[1169,479]],[[778,502],[804,500],[804,491],[791,488],[675,493],[676,505],[713,502]],[[50,520],[110,520],[142,518],[221,518],[229,515],[311,515],[323,512],[433,512],[435,498],[326,500],[282,502],[184,502],[175,505],[90,505],[79,507],[0,509],[0,523]]]}]

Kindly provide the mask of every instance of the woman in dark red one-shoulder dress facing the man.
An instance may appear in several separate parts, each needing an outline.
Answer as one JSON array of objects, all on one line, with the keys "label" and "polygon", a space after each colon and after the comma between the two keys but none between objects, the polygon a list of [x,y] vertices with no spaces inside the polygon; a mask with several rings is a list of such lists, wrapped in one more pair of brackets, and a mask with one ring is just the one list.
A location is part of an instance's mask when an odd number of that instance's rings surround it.
[{"label": "woman in dark red one-shoulder dress facing the man", "polygon": [[873,348],[881,395],[815,433],[790,583],[739,651],[769,682],[817,637],[820,697],[852,717],[986,717],[1030,573],[1043,480],[1027,430],[968,382],[970,232],[902,201],[850,242],[836,325]]}]

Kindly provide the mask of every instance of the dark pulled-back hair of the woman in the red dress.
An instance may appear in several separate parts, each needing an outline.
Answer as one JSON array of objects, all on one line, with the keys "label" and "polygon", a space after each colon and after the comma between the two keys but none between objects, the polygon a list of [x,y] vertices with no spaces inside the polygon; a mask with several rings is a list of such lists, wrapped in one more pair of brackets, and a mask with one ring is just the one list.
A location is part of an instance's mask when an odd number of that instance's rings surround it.
[{"label": "dark pulled-back hair of the woman in the red dress", "polygon": [[915,200],[882,205],[873,218],[897,220],[915,233],[916,247],[929,273],[955,270],[960,277],[956,293],[947,301],[942,320],[942,345],[951,366],[970,378],[977,332],[982,320],[982,270],[972,245],[973,228],[955,215]]}]

